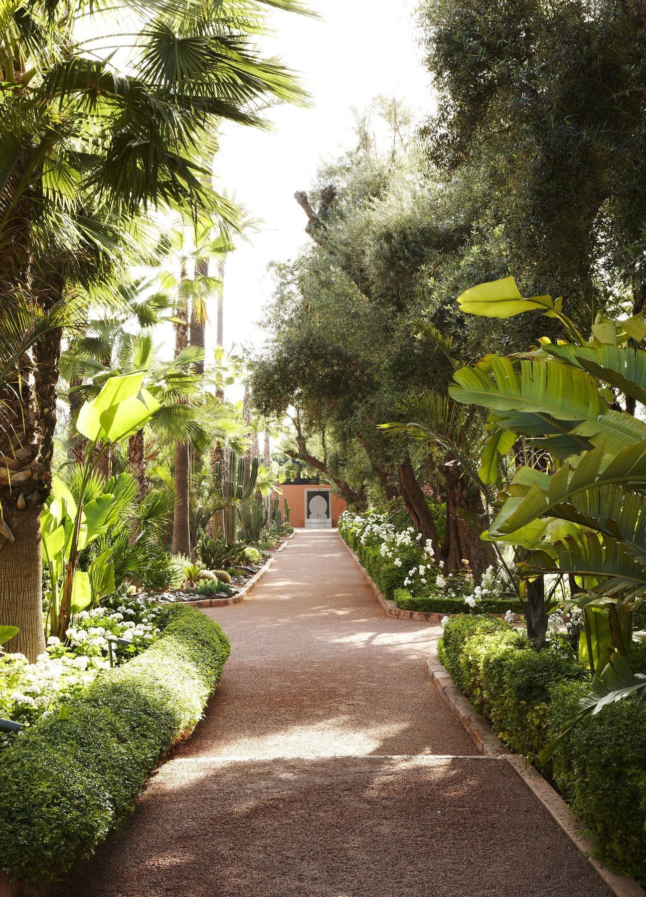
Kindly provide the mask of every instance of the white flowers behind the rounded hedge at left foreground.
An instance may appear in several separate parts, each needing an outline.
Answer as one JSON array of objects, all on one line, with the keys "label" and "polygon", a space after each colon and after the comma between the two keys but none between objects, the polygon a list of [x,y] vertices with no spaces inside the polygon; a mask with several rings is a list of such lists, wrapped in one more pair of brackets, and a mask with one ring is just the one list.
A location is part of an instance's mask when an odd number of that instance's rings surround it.
[{"label": "white flowers behind the rounded hedge at left foreground", "polygon": [[[49,636],[35,664],[22,654],[0,655],[0,717],[30,726],[57,711],[109,667],[109,640],[128,642],[113,644],[116,665],[148,648],[162,631],[166,609],[141,597],[119,597],[115,604],[75,614],[65,639]],[[12,738],[0,733],[0,747]]]}]

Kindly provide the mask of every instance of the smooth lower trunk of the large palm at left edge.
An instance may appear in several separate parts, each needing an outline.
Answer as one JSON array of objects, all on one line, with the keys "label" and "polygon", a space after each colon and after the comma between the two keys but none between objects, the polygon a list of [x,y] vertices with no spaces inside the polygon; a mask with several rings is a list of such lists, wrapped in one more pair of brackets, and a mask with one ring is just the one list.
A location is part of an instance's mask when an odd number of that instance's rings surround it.
[{"label": "smooth lower trunk of the large palm at left edge", "polygon": [[0,626],[18,626],[4,645],[34,663],[46,649],[41,589],[40,506],[25,509],[13,524],[14,542],[0,555]]}]

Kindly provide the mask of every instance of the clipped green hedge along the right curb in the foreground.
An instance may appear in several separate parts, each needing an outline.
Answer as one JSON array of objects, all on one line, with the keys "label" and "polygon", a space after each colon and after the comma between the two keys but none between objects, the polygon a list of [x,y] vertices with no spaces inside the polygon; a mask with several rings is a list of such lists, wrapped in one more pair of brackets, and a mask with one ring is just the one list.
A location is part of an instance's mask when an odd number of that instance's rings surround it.
[{"label": "clipped green hedge along the right curb in the foreground", "polygon": [[[635,669],[644,665],[635,649]],[[534,762],[572,702],[589,692],[589,671],[564,651],[530,649],[492,617],[447,621],[439,645],[453,681],[512,750]],[[609,867],[646,884],[646,714],[621,701],[581,720],[548,772],[591,833]]]}]

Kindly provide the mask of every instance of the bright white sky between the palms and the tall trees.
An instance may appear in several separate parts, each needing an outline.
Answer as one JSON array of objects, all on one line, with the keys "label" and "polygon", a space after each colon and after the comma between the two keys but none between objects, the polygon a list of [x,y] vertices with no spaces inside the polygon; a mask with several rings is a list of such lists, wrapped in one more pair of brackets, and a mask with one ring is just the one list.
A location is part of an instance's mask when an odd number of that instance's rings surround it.
[{"label": "bright white sky between the palms and the tall trees", "polygon": [[[273,292],[267,265],[294,257],[309,239],[294,191],[309,189],[320,161],[352,145],[353,107],[362,112],[383,95],[404,100],[416,115],[429,111],[432,101],[415,35],[415,0],[311,0],[310,7],[319,20],[274,14],[275,37],[267,52],[301,73],[312,106],[273,109],[273,132],[229,126],[215,159],[218,187],[234,192],[265,222],[227,260],[227,349],[262,342],[256,322]],[[207,358],[214,323],[209,329]]]}]

